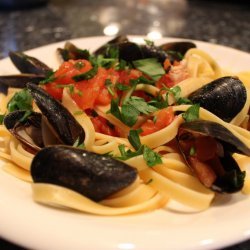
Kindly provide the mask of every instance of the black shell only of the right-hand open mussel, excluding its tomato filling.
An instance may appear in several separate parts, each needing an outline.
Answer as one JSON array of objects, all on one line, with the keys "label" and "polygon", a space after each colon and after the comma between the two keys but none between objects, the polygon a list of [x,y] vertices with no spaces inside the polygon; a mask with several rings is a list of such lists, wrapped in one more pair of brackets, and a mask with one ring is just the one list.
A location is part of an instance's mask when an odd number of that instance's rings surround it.
[{"label": "black shell only of the right-hand open mussel, excluding its tomato filling", "polygon": [[[223,193],[241,190],[244,185],[245,172],[240,170],[232,154],[238,152],[250,156],[250,148],[221,124],[204,120],[185,122],[179,127],[177,141],[184,159],[194,172],[196,171],[192,163],[196,162],[196,160],[195,156],[190,154],[189,147],[194,145],[194,141],[199,136],[211,137],[219,143],[217,145],[223,147],[223,150],[220,149],[220,154],[218,153],[216,159],[206,161],[209,165],[217,160],[220,162],[220,167],[217,164],[210,165],[211,170],[216,174],[216,178],[210,188],[216,192]],[[209,151],[209,148],[207,151]],[[222,169],[220,169],[221,167]],[[204,185],[206,182],[204,178],[207,178],[205,176],[206,174],[203,175],[202,173],[199,173],[197,176]]]}]

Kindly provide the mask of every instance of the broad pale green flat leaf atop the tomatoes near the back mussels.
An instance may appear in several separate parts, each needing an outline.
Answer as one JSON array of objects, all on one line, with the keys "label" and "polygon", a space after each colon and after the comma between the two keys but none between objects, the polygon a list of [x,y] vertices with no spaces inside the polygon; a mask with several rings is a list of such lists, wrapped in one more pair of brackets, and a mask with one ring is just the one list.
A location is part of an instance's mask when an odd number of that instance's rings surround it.
[{"label": "broad pale green flat leaf atop the tomatoes near the back mussels", "polygon": [[156,58],[147,58],[133,61],[136,69],[157,81],[165,74],[165,70]]}]

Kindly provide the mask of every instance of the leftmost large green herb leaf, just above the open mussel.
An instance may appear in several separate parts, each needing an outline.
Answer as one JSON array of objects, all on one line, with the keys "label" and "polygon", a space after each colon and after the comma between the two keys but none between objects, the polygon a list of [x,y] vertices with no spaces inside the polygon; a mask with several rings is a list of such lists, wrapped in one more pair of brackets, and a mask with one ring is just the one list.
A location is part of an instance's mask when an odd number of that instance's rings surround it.
[{"label": "leftmost large green herb leaf, just above the open mussel", "polygon": [[32,110],[32,96],[27,89],[23,89],[10,99],[7,104],[9,112],[15,110]]}]

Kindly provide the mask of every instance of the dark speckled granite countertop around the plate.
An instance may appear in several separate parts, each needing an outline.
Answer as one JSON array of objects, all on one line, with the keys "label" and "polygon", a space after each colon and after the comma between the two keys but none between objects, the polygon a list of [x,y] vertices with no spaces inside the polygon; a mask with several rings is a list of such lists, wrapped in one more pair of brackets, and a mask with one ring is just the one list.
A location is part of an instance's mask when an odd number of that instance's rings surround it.
[{"label": "dark speckled granite countertop around the plate", "polygon": [[[0,8],[0,58],[6,57],[9,50],[115,34],[181,37],[250,52],[250,4],[247,2],[51,0],[37,8]],[[0,240],[0,248],[21,249],[4,240]],[[250,249],[250,241],[227,249]]]}]

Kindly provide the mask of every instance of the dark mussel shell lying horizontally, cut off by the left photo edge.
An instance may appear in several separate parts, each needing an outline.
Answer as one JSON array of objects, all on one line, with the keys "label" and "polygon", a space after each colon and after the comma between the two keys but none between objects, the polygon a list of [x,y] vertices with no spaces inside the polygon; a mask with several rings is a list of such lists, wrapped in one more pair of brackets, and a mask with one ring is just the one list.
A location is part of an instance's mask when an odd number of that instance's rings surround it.
[{"label": "dark mussel shell lying horizontally, cut off by the left photo edge", "polygon": [[25,88],[29,82],[38,84],[44,80],[44,75],[36,74],[18,74],[18,75],[4,75],[0,76],[0,85],[11,88]]}]

